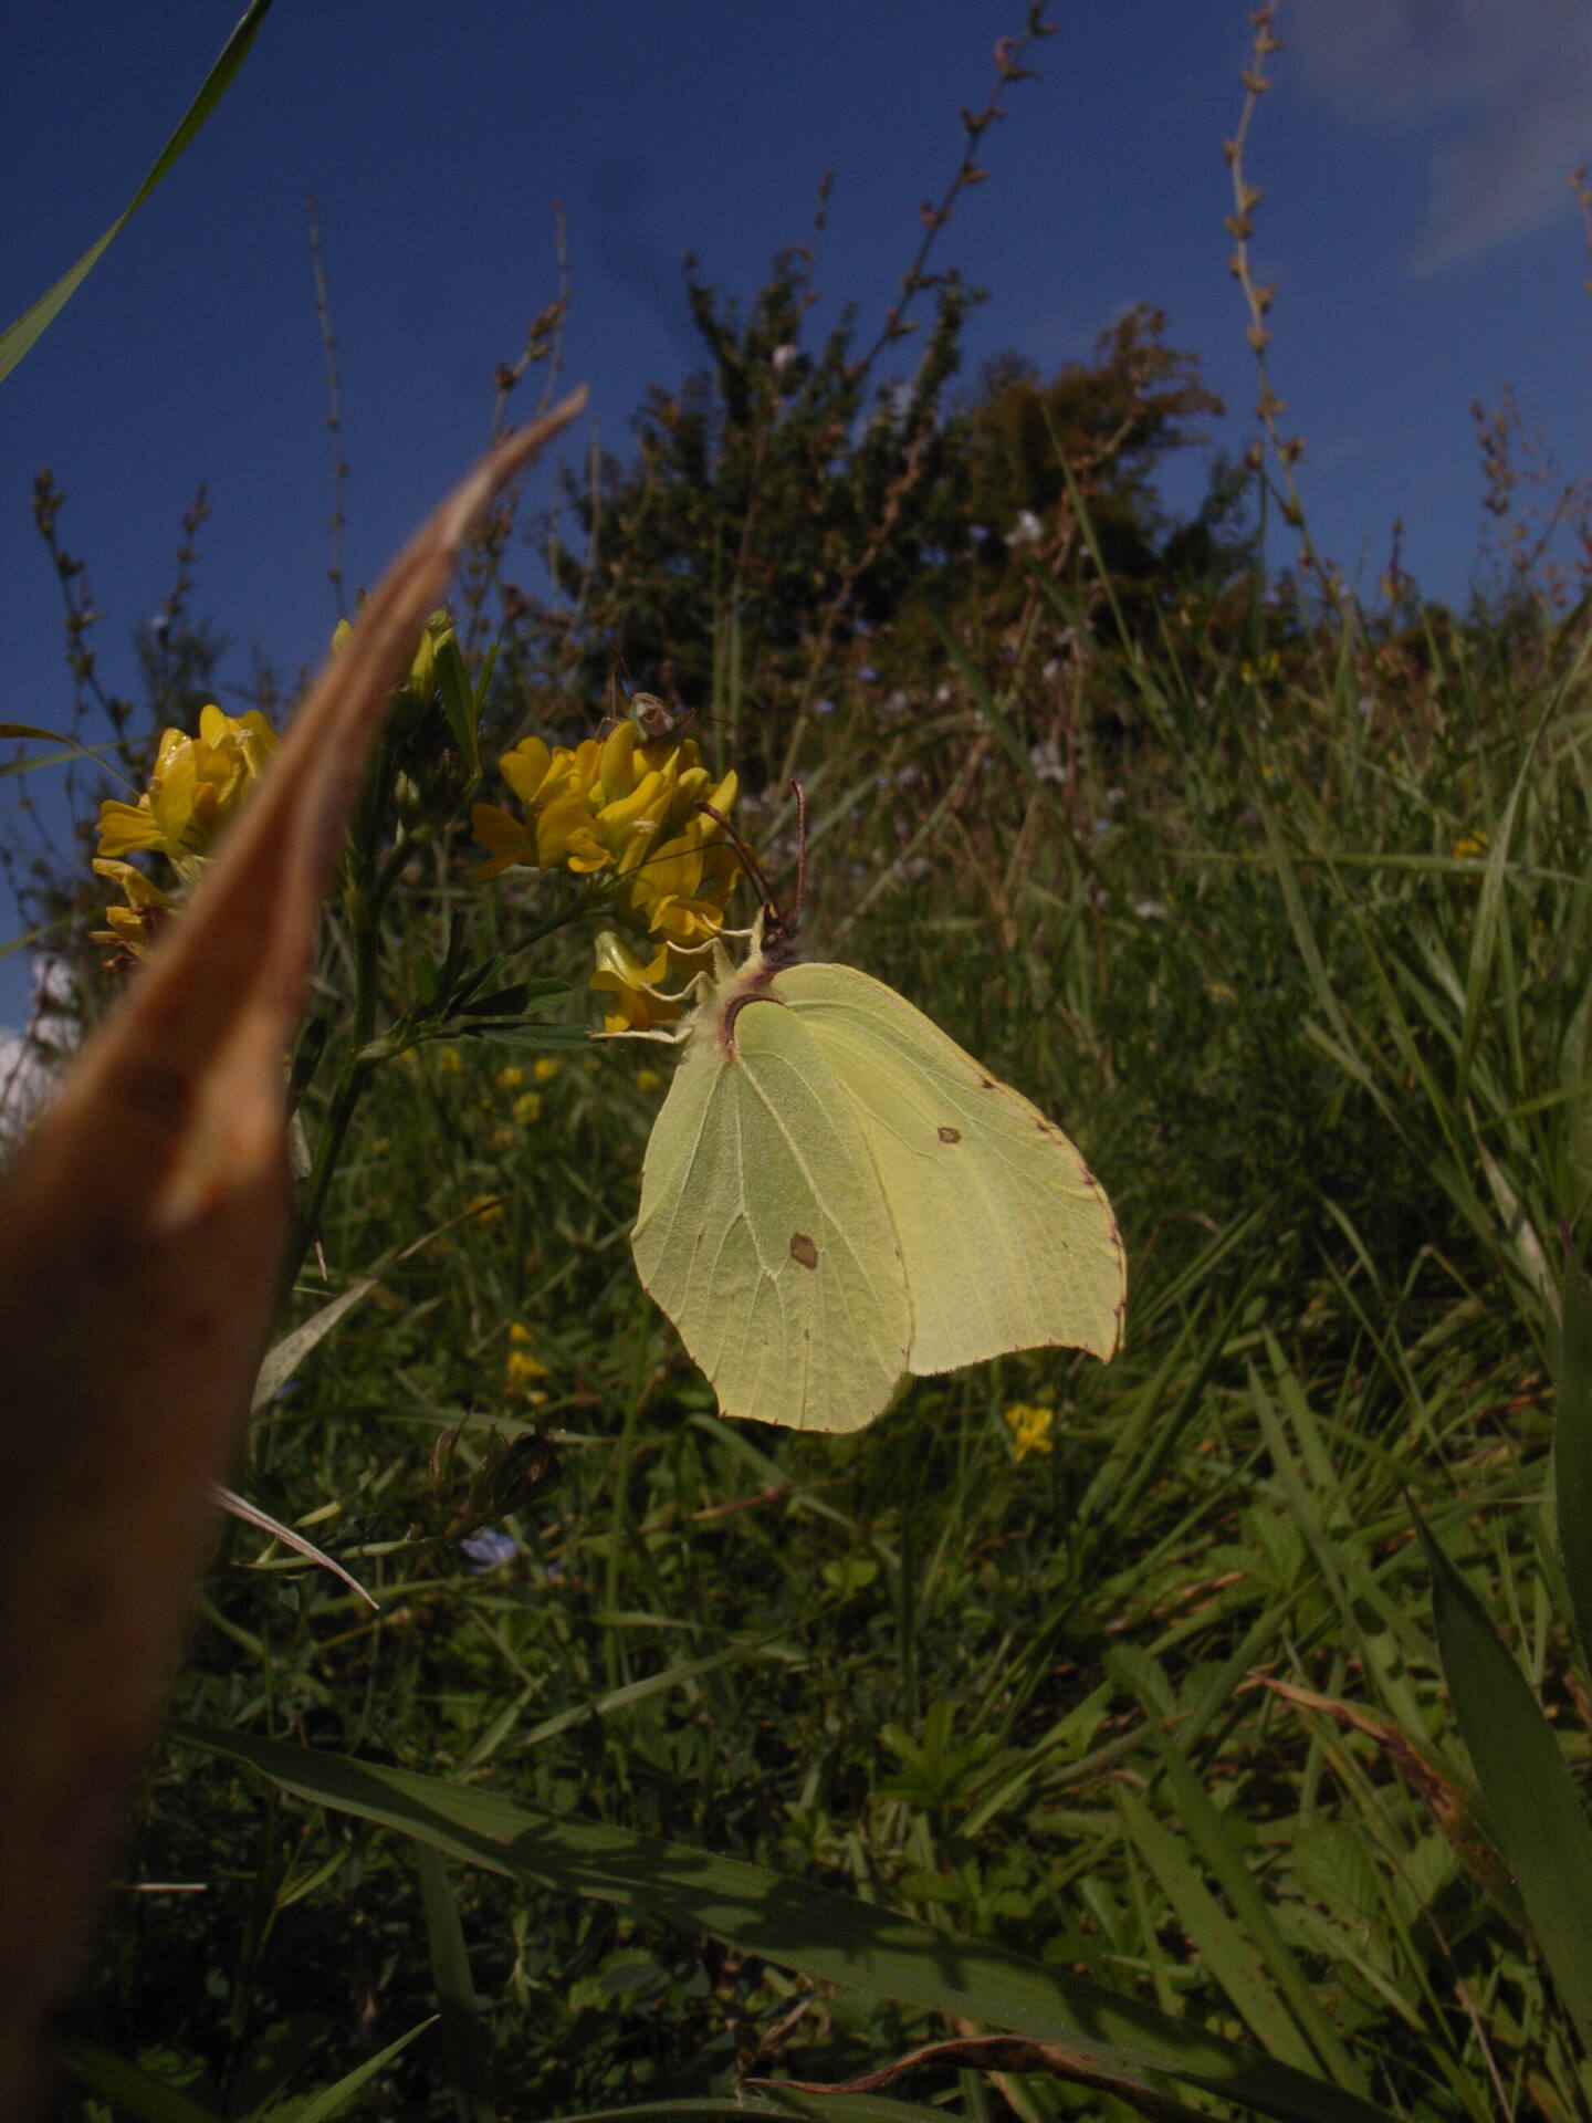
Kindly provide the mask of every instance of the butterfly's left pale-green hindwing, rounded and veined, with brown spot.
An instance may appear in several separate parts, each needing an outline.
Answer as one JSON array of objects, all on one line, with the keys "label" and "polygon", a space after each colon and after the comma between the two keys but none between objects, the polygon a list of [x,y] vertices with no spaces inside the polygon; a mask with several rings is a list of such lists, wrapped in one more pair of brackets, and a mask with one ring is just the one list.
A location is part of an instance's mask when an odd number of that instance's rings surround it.
[{"label": "butterfly's left pale-green hindwing, rounded and veined, with brown spot", "polygon": [[794,1011],[711,1011],[647,1142],[630,1236],[726,1416],[855,1431],[906,1371],[896,1227],[849,1100]]}]

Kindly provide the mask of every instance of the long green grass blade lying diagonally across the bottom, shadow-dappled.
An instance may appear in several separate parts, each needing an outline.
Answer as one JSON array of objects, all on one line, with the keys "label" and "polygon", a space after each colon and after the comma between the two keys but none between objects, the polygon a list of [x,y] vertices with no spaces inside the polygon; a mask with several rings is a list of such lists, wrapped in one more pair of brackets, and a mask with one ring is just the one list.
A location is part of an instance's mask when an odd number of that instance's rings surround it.
[{"label": "long green grass blade lying diagonally across the bottom, shadow-dappled", "polygon": [[280,1741],[178,1726],[178,1741],[270,1777],[312,1805],[397,1828],[526,1885],[709,1932],[743,1953],[1042,2042],[1087,2042],[1108,2064],[1157,2070],[1297,2123],[1388,2123],[1375,2104],[1002,1947],[930,1930],[872,1902],[781,1879],[711,1851],[575,1822],[499,1792],[378,1768]]}]

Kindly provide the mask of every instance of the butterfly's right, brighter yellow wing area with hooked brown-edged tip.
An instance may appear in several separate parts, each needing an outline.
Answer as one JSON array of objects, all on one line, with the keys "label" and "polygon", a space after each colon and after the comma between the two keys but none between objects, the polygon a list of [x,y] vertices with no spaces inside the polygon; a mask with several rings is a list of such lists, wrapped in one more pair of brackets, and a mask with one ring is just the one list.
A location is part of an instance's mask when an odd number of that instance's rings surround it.
[{"label": "butterfly's right, brighter yellow wing area with hooked brown-edged tip", "polygon": [[868,1144],[906,1265],[909,1367],[1051,1344],[1114,1354],[1127,1295],[1117,1219],[1061,1129],[853,966],[792,966],[773,987],[781,1015],[811,1028]]}]

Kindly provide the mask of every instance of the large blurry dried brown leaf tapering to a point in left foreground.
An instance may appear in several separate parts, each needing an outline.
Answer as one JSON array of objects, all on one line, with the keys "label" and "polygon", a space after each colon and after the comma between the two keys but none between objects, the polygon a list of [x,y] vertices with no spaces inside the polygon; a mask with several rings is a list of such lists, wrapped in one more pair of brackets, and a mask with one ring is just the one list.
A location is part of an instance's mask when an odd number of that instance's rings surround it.
[{"label": "large blurry dried brown leaf tapering to a point in left foreground", "polygon": [[282,1057],[348,807],[414,639],[503,480],[486,456],[321,673],[208,877],[0,1191],[0,2112],[70,1985],[178,1654],[278,1297]]}]

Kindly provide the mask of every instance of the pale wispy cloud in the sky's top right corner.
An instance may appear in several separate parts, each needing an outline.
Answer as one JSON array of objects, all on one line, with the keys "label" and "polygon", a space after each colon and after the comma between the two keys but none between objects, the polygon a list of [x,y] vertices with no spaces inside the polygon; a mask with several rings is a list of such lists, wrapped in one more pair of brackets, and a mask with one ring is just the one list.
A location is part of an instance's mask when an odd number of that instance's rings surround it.
[{"label": "pale wispy cloud in the sky's top right corner", "polygon": [[1569,204],[1569,172],[1592,157],[1588,0],[1297,0],[1278,28],[1344,117],[1448,119],[1426,157],[1414,272]]}]

